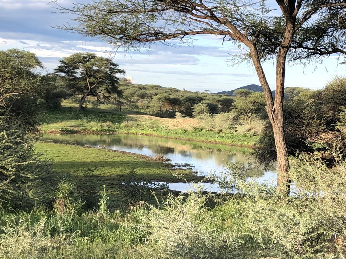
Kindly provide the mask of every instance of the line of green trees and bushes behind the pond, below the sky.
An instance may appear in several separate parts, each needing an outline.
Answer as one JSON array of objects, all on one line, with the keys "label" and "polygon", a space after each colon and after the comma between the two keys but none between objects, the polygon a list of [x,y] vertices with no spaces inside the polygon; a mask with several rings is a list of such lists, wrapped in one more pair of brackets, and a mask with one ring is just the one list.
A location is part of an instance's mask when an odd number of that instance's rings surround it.
[{"label": "line of green trees and bushes behind the pond, below the sky", "polygon": [[[26,182],[31,177],[28,175],[42,169],[38,169],[43,165],[32,150],[40,124],[38,114],[42,109],[60,107],[64,98],[78,99],[76,112],[81,110],[87,98],[94,98],[94,102],[116,104],[115,107],[126,105],[129,109],[159,116],[193,116],[211,120],[213,115],[225,114],[218,119],[224,121],[223,125],[225,122],[229,124],[227,129],[240,121],[251,123],[255,116],[266,123],[255,149],[257,159],[268,166],[277,161],[275,136],[266,115],[263,93],[240,89],[234,96],[227,96],[157,85],[134,85],[117,77],[125,73],[117,64],[91,53],[63,58],[54,73],[44,75],[41,74],[43,65],[35,54],[28,51],[1,51],[0,62],[1,136],[5,143],[2,154],[8,156],[8,159],[3,159],[1,167],[4,190],[7,185],[23,188],[25,184],[19,184],[15,179],[27,178],[23,180]],[[283,127],[288,154],[299,156],[319,152],[326,163],[332,165],[330,152],[336,147],[338,152],[346,148],[342,127],[346,79],[335,78],[321,90],[287,88],[285,95]],[[209,129],[215,130],[215,125]],[[15,165],[23,168],[17,170]],[[17,178],[15,174],[22,175]],[[12,192],[10,189],[9,193]]]}]

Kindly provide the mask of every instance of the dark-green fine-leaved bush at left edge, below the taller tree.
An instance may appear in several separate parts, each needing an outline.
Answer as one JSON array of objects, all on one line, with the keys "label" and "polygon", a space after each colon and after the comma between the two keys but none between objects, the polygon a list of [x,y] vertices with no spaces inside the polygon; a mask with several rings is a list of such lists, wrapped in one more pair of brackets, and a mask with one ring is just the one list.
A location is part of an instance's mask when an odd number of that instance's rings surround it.
[{"label": "dark-green fine-leaved bush at left edge, below the taller tree", "polygon": [[21,207],[22,203],[32,204],[38,199],[38,177],[42,168],[33,151],[33,138],[22,131],[20,125],[4,124],[0,128],[0,203]]}]

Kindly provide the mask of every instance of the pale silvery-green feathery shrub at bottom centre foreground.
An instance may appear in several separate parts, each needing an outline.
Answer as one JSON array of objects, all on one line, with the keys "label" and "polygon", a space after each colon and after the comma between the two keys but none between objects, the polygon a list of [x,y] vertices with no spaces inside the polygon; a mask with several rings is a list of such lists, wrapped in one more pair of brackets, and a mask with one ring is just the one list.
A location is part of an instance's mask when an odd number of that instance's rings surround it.
[{"label": "pale silvery-green feathery shrub at bottom centre foreground", "polygon": [[227,258],[239,247],[232,233],[222,229],[220,215],[210,213],[207,196],[171,196],[162,208],[144,214],[148,245],[157,258]]}]

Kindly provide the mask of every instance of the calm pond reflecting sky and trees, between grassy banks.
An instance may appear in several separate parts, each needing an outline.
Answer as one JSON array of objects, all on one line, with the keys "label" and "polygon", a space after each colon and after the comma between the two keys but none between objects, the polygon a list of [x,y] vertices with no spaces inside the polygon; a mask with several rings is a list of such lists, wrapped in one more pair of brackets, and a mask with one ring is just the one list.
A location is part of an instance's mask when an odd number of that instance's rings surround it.
[{"label": "calm pond reflecting sky and trees, between grassy banks", "polygon": [[[225,162],[254,163],[251,148],[221,144],[210,144],[196,141],[174,140],[133,134],[43,134],[43,141],[54,143],[71,143],[80,146],[105,147],[107,149],[126,151],[147,156],[164,155],[170,163],[189,164],[198,175],[222,172],[226,169]],[[276,181],[276,170],[264,170],[255,167],[250,173],[251,178],[259,182]],[[169,188],[176,191],[190,189],[188,183],[169,183]],[[204,183],[206,189],[218,191],[215,184]]]}]

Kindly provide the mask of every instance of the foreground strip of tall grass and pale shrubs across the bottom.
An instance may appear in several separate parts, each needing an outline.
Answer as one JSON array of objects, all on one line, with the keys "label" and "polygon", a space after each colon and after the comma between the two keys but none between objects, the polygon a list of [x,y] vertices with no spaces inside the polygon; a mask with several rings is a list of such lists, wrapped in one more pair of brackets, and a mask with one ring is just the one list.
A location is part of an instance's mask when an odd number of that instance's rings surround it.
[{"label": "foreground strip of tall grass and pale shrubs across the bottom", "polygon": [[235,179],[228,184],[241,194],[189,192],[109,212],[104,191],[99,206],[83,212],[73,186],[62,185],[57,200],[69,202],[55,209],[1,212],[0,257],[344,258],[346,162],[330,169],[302,157],[291,165],[297,188],[284,199]]}]

